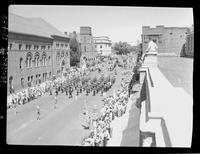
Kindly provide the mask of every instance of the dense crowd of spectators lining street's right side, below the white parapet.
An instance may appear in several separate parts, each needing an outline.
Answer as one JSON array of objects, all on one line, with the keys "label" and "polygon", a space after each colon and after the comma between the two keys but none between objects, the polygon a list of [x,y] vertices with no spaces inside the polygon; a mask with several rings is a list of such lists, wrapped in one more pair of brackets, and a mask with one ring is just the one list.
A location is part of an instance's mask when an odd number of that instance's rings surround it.
[{"label": "dense crowd of spectators lining street's right side, below the white parapet", "polygon": [[[128,85],[132,73],[126,72],[121,81],[121,87],[114,92],[113,96],[106,97],[100,113],[94,113],[87,116],[88,129],[90,134],[83,139],[83,146],[107,146],[109,139],[112,137],[111,122],[125,114],[129,100]],[[94,116],[95,115],[95,116]]]}]

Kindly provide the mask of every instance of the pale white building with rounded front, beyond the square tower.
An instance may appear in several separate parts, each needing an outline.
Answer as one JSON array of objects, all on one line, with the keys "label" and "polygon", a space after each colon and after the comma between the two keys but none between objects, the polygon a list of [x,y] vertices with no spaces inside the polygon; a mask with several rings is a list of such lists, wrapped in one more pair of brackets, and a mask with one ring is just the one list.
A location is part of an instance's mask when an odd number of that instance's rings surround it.
[{"label": "pale white building with rounded front, beyond the square tower", "polygon": [[93,37],[95,49],[100,55],[110,55],[112,42],[107,36]]}]

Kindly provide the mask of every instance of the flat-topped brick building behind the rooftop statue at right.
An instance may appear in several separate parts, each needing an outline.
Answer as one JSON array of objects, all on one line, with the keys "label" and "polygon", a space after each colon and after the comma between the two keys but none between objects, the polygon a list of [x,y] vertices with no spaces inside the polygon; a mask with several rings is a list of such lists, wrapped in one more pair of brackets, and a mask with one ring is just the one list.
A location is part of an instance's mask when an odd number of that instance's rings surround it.
[{"label": "flat-topped brick building behind the rooftop statue at right", "polygon": [[180,52],[187,36],[187,27],[164,27],[163,25],[150,28],[142,27],[142,51],[147,49],[151,37],[158,45],[159,54],[180,56]]}]

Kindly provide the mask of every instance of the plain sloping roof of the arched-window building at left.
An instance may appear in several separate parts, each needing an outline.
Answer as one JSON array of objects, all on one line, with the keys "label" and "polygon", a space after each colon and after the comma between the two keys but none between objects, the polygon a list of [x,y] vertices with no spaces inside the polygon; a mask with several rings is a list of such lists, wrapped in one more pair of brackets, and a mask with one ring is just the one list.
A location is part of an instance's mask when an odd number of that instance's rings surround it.
[{"label": "plain sloping roof of the arched-window building at left", "polygon": [[8,16],[8,31],[49,38],[51,35],[67,37],[42,18],[26,18],[13,13],[9,13]]}]

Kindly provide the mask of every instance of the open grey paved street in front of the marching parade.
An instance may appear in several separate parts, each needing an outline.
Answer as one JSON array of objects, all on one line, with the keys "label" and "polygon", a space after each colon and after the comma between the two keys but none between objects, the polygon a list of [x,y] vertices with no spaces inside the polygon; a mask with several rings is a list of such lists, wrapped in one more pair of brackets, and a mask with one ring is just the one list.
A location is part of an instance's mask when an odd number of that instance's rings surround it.
[{"label": "open grey paved street in front of the marching parade", "polygon": [[[112,95],[114,89],[120,87],[122,69],[118,68],[115,84],[107,92]],[[97,72],[93,72],[96,74]],[[69,99],[63,94],[58,95],[58,108],[54,109],[54,96],[44,96],[19,106],[19,113],[15,115],[13,109],[7,111],[7,143],[28,145],[79,145],[81,139],[89,133],[81,124],[84,123],[84,100],[91,111],[94,105],[100,109],[103,97],[85,96],[81,94],[76,99]],[[36,120],[36,106],[41,107],[41,120]]]}]

